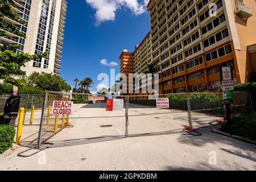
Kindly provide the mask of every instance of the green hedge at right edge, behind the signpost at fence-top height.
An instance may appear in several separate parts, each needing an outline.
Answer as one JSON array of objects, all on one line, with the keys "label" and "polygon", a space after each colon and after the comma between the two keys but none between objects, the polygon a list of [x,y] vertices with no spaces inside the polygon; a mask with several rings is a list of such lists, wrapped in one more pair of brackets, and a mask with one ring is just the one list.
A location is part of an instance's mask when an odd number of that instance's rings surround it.
[{"label": "green hedge at right edge, behind the signpost at fence-top height", "polygon": [[236,84],[234,91],[241,92],[246,91],[251,95],[251,102],[253,102],[253,108],[256,111],[256,82],[247,82],[245,84]]}]

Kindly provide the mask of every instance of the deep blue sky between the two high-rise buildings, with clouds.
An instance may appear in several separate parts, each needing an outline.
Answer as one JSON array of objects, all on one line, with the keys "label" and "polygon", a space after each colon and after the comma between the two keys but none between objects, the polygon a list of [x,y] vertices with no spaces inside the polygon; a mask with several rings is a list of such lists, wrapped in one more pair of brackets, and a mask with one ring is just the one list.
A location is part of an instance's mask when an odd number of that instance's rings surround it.
[{"label": "deep blue sky between the two high-rise buildings, with clouds", "polygon": [[[110,75],[111,68],[119,73],[122,50],[133,52],[150,31],[144,4],[143,0],[68,0],[61,77],[72,86],[74,78],[91,77],[95,82],[91,90],[97,91],[98,74]],[[103,65],[101,60],[118,65]]]}]

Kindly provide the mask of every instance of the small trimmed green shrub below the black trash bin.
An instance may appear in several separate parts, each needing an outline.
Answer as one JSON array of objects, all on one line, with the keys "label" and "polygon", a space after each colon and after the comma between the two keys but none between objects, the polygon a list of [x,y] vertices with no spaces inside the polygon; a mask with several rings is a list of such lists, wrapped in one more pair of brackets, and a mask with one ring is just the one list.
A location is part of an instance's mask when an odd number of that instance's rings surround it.
[{"label": "small trimmed green shrub below the black trash bin", "polygon": [[13,146],[14,136],[14,126],[0,125],[0,154]]}]

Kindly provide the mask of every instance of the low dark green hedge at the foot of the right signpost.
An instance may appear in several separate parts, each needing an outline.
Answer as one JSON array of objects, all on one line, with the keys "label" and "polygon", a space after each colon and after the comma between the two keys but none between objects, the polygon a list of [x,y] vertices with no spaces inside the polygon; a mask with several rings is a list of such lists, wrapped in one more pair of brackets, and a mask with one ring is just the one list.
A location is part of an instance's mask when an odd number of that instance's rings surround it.
[{"label": "low dark green hedge at the foot of the right signpost", "polygon": [[256,114],[234,117],[230,124],[221,125],[221,131],[256,140]]}]

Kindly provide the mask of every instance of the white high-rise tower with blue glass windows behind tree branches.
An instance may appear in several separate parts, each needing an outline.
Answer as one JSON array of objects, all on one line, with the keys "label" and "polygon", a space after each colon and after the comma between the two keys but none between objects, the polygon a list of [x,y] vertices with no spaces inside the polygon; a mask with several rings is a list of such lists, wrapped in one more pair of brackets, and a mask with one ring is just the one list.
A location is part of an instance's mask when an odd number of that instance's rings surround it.
[{"label": "white high-rise tower with blue glass windows behind tree branches", "polygon": [[27,75],[34,71],[59,75],[67,2],[65,0],[14,0],[14,2],[18,9],[13,7],[13,11],[27,24],[23,26],[7,16],[4,19],[18,25],[27,38],[20,38],[5,30],[10,37],[0,38],[0,44],[20,44],[19,51],[31,55],[48,51],[46,59],[32,60],[26,63],[26,67],[19,69],[26,71]]}]

